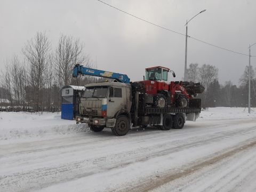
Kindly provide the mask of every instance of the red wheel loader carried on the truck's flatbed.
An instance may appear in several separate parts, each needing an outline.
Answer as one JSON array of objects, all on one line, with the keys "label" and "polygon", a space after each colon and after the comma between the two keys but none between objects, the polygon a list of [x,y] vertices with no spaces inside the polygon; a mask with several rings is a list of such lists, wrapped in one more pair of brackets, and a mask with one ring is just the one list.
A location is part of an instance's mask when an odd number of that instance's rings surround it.
[{"label": "red wheel loader carried on the truck's flatbed", "polygon": [[189,99],[202,93],[204,87],[200,83],[172,81],[169,73],[175,77],[173,70],[166,67],[146,68],[146,78],[142,83],[145,87],[146,103],[154,107],[187,107]]}]

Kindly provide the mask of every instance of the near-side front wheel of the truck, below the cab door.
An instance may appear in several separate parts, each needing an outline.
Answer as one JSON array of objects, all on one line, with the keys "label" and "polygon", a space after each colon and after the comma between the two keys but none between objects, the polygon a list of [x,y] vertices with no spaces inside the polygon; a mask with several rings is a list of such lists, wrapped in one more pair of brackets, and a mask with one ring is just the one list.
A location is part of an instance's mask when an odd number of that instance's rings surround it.
[{"label": "near-side front wheel of the truck, below the cab door", "polygon": [[123,136],[128,133],[130,129],[129,118],[125,115],[121,115],[116,119],[115,127],[111,128],[112,132],[117,136]]}]

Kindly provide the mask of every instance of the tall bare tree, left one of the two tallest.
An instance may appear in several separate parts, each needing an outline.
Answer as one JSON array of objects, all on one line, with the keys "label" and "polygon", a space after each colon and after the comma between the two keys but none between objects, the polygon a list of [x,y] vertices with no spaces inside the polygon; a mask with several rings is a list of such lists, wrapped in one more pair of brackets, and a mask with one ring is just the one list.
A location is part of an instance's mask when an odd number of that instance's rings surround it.
[{"label": "tall bare tree, left one of the two tallest", "polygon": [[22,53],[29,63],[29,83],[34,90],[34,104],[36,111],[39,106],[39,91],[46,83],[46,69],[49,65],[51,44],[45,33],[37,32],[22,49]]}]

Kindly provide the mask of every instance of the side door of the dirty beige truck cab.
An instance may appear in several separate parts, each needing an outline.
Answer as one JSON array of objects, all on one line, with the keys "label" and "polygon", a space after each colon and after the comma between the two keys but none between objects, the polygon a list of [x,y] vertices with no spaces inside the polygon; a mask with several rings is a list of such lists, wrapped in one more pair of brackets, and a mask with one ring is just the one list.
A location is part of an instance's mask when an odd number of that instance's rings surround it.
[{"label": "side door of the dirty beige truck cab", "polygon": [[114,117],[117,111],[124,109],[126,104],[125,87],[110,86],[107,106],[107,116]]}]

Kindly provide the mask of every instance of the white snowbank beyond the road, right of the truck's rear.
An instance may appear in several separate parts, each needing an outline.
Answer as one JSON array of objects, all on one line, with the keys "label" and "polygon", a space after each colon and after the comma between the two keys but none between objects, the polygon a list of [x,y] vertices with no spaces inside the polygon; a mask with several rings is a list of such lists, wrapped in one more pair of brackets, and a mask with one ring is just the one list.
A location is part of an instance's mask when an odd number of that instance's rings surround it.
[{"label": "white snowbank beyond the road, right of the truck's rear", "polygon": [[248,113],[248,108],[242,107],[215,107],[207,108],[201,111],[200,117],[203,119],[242,119],[256,118],[256,108],[251,108],[251,114]]}]

